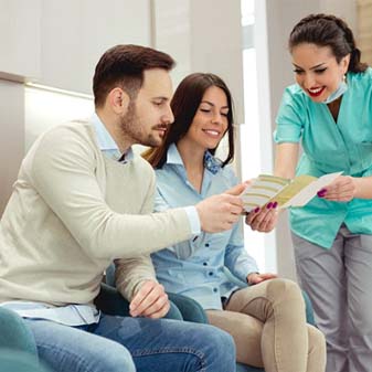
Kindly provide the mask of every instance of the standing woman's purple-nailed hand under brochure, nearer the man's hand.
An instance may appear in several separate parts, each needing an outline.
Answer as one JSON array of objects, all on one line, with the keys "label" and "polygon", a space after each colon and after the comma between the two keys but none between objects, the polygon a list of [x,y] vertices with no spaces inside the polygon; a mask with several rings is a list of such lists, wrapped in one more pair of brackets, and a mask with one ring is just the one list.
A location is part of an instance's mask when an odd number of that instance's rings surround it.
[{"label": "standing woman's purple-nailed hand under brochure, nearer the man's hand", "polygon": [[268,203],[262,209],[251,211],[246,217],[245,223],[251,226],[253,231],[262,233],[270,232],[278,221],[277,203]]}]

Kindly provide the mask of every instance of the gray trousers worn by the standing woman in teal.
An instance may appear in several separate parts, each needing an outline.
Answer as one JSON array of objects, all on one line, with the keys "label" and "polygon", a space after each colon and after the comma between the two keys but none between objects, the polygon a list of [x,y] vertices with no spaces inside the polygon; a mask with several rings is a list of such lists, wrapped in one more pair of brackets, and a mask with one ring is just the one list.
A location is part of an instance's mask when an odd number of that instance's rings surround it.
[{"label": "gray trousers worn by the standing woman in teal", "polygon": [[327,372],[372,371],[372,235],[339,230],[330,251],[293,234],[297,275],[327,340]]}]

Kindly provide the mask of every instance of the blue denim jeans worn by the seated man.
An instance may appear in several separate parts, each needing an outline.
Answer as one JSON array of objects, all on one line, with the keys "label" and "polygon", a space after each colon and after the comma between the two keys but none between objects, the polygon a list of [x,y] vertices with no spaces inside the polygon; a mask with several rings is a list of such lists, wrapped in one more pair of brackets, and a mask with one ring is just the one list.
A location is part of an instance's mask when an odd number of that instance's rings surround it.
[{"label": "blue denim jeans worn by the seated man", "polygon": [[82,327],[28,325],[55,372],[235,372],[232,337],[209,325],[107,315]]}]

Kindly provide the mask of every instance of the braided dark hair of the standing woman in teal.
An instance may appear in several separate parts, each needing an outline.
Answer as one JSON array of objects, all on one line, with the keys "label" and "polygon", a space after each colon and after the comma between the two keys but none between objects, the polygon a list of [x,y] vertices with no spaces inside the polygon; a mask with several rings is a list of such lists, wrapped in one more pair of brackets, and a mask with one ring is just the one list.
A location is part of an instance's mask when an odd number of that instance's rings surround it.
[{"label": "braided dark hair of the standing woman in teal", "polygon": [[340,62],[350,53],[348,71],[353,73],[364,72],[366,63],[362,63],[361,51],[355,45],[354,35],[348,24],[334,15],[310,14],[301,19],[289,35],[289,51],[301,43],[329,46]]}]

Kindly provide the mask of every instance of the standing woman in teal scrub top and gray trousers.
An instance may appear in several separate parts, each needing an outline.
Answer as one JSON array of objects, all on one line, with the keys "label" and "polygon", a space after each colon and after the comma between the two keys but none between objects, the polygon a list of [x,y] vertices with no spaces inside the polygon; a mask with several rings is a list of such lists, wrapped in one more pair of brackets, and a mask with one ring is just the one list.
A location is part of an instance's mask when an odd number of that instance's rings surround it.
[{"label": "standing woman in teal scrub top and gray trousers", "polygon": [[297,273],[326,334],[327,371],[370,372],[372,70],[360,62],[347,23],[333,15],[304,18],[289,51],[297,84],[286,88],[276,119],[275,174],[343,171],[290,211]]}]

